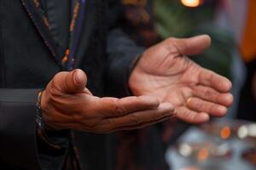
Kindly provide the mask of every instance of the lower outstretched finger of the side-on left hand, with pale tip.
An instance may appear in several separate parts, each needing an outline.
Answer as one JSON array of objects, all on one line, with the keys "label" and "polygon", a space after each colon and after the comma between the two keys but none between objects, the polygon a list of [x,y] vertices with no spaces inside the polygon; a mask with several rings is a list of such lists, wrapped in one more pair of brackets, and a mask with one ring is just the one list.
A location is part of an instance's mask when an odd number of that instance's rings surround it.
[{"label": "lower outstretched finger of the side-on left hand, with pale tip", "polygon": [[137,127],[145,122],[159,122],[166,116],[173,116],[173,106],[170,103],[163,103],[157,109],[138,111],[126,116],[108,118],[106,121],[112,125],[112,129],[119,127]]}]

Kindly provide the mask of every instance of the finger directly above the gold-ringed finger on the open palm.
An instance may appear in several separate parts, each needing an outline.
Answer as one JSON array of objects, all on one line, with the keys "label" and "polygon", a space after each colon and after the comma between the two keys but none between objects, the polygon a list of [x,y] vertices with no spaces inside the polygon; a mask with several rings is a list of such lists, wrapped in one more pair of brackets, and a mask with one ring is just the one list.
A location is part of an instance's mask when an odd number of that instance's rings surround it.
[{"label": "finger directly above the gold-ringed finger on the open palm", "polygon": [[213,88],[205,86],[195,86],[193,96],[211,101],[213,103],[229,107],[233,103],[233,95],[229,93],[219,93]]}]

